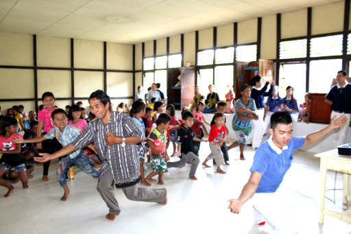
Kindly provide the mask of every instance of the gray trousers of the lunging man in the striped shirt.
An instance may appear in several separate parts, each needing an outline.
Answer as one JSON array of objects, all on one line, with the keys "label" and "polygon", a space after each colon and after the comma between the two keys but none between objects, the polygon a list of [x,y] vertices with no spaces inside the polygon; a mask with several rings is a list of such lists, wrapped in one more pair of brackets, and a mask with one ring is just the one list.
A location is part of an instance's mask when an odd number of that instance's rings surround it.
[{"label": "gray trousers of the lunging man in the striped shirt", "polygon": [[[108,171],[99,179],[99,182],[97,183],[97,191],[99,191],[101,198],[110,209],[108,213],[119,215],[119,213],[121,213],[121,209],[119,208],[119,204],[114,197],[113,190],[114,180],[112,172]],[[139,187],[138,184],[122,188],[122,190],[129,200],[138,200],[143,202],[163,202],[167,196],[166,189],[146,189]]]}]

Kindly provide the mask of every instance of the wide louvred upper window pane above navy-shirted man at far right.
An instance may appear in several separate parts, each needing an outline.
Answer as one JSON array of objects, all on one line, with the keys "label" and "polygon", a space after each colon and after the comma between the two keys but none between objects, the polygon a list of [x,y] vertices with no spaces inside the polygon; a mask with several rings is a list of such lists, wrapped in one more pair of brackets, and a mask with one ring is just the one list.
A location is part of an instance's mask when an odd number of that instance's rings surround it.
[{"label": "wide louvred upper window pane above navy-shirted man at far right", "polygon": [[311,57],[341,56],[343,35],[324,36],[311,39]]}]

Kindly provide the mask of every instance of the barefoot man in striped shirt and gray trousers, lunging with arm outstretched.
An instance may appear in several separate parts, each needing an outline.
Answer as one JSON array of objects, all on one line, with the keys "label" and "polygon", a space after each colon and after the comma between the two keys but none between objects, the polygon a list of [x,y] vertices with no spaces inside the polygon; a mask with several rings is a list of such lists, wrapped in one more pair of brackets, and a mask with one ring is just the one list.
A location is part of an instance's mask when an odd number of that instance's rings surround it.
[{"label": "barefoot man in striped shirt and gray trousers, lunging with arm outstretched", "polygon": [[167,204],[166,189],[145,189],[138,187],[141,179],[136,143],[145,141],[143,132],[133,119],[125,113],[110,110],[110,97],[101,90],[89,97],[91,113],[96,119],[86,126],[79,137],[53,154],[40,154],[38,162],[56,159],[84,148],[94,141],[95,149],[102,161],[97,191],[110,209],[106,219],[114,221],[121,209],[114,198],[113,185],[122,188],[130,200]]}]

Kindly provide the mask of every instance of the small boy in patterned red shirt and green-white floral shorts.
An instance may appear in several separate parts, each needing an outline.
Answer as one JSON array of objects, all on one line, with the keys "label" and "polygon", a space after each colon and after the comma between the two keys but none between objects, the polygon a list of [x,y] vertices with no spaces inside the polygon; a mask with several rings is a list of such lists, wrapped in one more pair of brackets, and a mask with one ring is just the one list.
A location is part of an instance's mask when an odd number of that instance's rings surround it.
[{"label": "small boy in patterned red shirt and green-white floral shorts", "polygon": [[158,174],[158,185],[164,185],[162,180],[163,172],[167,170],[166,161],[169,160],[169,156],[166,151],[167,141],[167,128],[171,123],[171,117],[165,113],[160,114],[156,121],[156,128],[150,133],[149,147],[151,152],[151,165],[154,172],[149,174],[145,179],[147,181],[156,181],[152,179],[152,176]]}]

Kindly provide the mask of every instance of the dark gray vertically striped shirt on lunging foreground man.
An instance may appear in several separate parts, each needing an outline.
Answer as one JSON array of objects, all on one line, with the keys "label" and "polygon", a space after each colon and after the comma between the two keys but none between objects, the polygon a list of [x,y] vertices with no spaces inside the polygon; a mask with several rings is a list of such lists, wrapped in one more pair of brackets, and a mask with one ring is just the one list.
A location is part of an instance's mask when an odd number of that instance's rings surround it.
[{"label": "dark gray vertically striped shirt on lunging foreground man", "polygon": [[106,132],[116,134],[117,137],[132,136],[145,139],[144,133],[135,124],[132,117],[126,113],[111,111],[110,119],[106,125],[101,119],[90,121],[80,136],[72,142],[72,145],[80,149],[94,141],[95,150],[102,161],[100,178],[111,170],[116,186],[132,185],[134,181],[140,179],[136,144],[127,144],[124,148],[121,144],[109,146],[104,140],[107,136]]}]

